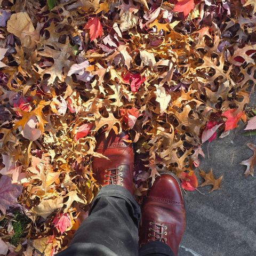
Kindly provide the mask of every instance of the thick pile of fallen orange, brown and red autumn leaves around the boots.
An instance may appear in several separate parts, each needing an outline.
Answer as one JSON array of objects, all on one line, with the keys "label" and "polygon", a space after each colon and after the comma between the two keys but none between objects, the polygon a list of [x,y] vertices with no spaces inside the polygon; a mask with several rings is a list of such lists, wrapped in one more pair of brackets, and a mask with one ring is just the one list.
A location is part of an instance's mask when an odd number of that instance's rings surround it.
[{"label": "thick pile of fallen orange, brown and red autumn leaves around the boots", "polygon": [[[0,254],[67,246],[98,191],[91,163],[103,157],[94,152],[102,127],[129,131],[139,196],[161,170],[195,190],[201,145],[246,122],[253,0],[0,3]],[[220,187],[222,177],[199,174]],[[13,242],[17,212],[26,220]]]}]

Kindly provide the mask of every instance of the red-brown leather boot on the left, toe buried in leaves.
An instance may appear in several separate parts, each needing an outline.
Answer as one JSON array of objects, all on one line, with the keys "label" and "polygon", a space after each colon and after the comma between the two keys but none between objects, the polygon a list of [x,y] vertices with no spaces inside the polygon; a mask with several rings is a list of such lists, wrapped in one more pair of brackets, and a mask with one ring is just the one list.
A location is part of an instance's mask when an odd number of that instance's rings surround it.
[{"label": "red-brown leather boot on the left, toe buried in leaves", "polygon": [[[95,152],[108,157],[109,160],[93,157],[92,170],[100,185],[121,185],[133,194],[133,146],[132,143],[124,140],[130,140],[129,135],[125,132],[116,135],[111,130],[107,139],[105,133],[101,132],[97,136]],[[116,170],[109,170],[114,168]],[[116,175],[116,179],[106,177],[106,175]]]}]

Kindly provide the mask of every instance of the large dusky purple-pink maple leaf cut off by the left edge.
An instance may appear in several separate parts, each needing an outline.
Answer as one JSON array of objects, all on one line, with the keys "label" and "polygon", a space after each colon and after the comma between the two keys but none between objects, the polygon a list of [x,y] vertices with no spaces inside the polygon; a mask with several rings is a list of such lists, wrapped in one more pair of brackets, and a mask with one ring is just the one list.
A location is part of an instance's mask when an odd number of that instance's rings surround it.
[{"label": "large dusky purple-pink maple leaf cut off by the left edge", "polygon": [[12,184],[12,179],[3,175],[0,178],[0,211],[5,214],[9,207],[18,203],[17,197],[22,192],[22,186]]}]

